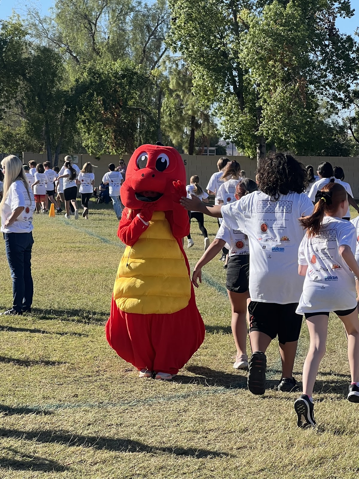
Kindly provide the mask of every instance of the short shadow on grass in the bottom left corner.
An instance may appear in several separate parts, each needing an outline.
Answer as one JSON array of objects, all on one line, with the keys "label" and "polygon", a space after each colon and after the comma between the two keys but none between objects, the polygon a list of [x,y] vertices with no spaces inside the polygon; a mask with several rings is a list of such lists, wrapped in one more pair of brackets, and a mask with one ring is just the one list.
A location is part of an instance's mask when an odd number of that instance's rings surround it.
[{"label": "short shadow on grass in the bottom left corner", "polygon": [[11,468],[16,471],[32,470],[41,472],[64,472],[69,470],[66,466],[62,466],[62,464],[52,459],[33,455],[29,456],[10,447],[2,448],[2,450],[19,455],[22,459],[9,458],[6,456],[0,457],[0,468]]}]

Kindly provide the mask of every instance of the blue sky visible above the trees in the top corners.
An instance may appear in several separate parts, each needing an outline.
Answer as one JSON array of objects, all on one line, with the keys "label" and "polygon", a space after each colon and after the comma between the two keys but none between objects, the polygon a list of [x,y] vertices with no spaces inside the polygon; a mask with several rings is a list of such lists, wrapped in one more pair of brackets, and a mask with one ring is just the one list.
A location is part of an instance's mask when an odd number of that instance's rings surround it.
[{"label": "blue sky visible above the trees in the top corners", "polygon": [[[354,6],[356,2],[357,0],[352,0],[352,6]],[[54,1],[35,0],[34,2],[30,2],[30,4],[31,3],[37,5],[39,8],[41,8],[42,13],[46,14],[48,8],[51,7]],[[25,2],[24,0],[0,0],[0,19],[5,19],[9,17],[11,15],[12,9],[21,14],[23,11],[22,5],[24,4],[29,5],[29,3]],[[354,17],[349,19],[339,18],[337,20],[337,27],[343,33],[353,34],[355,32],[355,29],[359,27],[359,8],[357,9]]]}]

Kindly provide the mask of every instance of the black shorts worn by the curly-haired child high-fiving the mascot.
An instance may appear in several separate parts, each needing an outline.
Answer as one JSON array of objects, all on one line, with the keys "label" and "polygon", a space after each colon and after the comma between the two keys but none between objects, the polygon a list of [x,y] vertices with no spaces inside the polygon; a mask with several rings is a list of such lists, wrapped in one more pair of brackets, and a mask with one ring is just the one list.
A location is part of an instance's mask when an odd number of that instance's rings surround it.
[{"label": "black shorts worn by the curly-haired child high-fiving the mascot", "polygon": [[303,316],[295,310],[298,303],[277,304],[251,301],[248,306],[249,332],[260,331],[281,344],[298,341]]}]

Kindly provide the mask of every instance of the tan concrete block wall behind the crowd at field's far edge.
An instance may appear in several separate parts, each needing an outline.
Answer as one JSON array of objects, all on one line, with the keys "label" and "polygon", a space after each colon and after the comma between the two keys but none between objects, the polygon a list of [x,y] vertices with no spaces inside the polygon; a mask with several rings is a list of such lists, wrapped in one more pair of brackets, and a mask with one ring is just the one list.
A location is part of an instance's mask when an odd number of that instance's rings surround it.
[{"label": "tan concrete block wall behind the crowd at field's far edge", "polygon": [[[77,153],[74,153],[77,154]],[[108,171],[108,165],[114,163],[116,166],[119,164],[120,158],[127,163],[130,159],[130,155],[102,155],[100,160],[97,160],[94,156],[88,154],[77,154],[79,162],[77,163],[79,168],[90,161],[94,166],[95,172],[95,184],[98,186],[102,180],[103,175]],[[61,167],[64,163],[65,154],[59,156],[59,164]],[[181,155],[185,164],[187,173],[187,182],[190,182],[192,175],[198,175],[200,178],[200,184],[203,188],[207,186],[209,179],[217,169],[217,161],[220,156],[195,156],[195,155]],[[23,153],[23,162],[28,163],[30,160],[43,163],[46,161],[46,155],[41,153]],[[246,171],[246,176],[255,180],[257,171],[257,160],[252,160],[246,156],[233,156],[231,160],[236,160],[241,165],[241,169]],[[298,156],[297,159],[302,161],[304,165],[313,165],[314,171],[316,171],[319,163],[322,161],[329,161],[333,168],[335,166],[341,166],[345,173],[345,181],[348,182],[352,188],[355,198],[359,198],[359,157],[323,157],[323,156]]]}]

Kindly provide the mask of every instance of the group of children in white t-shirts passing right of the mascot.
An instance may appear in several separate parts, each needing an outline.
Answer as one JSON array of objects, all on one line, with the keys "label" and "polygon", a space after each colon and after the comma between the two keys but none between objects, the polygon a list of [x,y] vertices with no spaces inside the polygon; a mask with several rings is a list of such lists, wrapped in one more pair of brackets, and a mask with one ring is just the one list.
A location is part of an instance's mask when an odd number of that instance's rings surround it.
[{"label": "group of children in white t-shirts passing right of the mascot", "polygon": [[256,182],[242,179],[236,162],[223,165],[227,159],[221,160],[221,171],[207,187],[216,194],[214,206],[189,190],[181,199],[188,211],[223,218],[215,240],[194,268],[192,282],[198,287],[204,264],[228,245],[226,288],[237,349],[234,367],[248,367],[253,394],[265,392],[266,350],[277,336],[282,362],[278,389],[299,389],[292,371],[305,316],[310,348],[303,366],[303,394],[294,408],[298,426],[314,425],[313,388],[330,312],[342,320],[348,338],[348,400],[359,402],[359,217],[349,221],[349,203],[355,204],[350,186],[343,182],[342,169],[333,171],[328,162],[319,165],[313,181],[313,167],[306,171],[290,154],[275,153],[262,160]]}]

